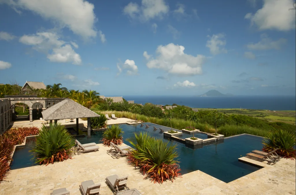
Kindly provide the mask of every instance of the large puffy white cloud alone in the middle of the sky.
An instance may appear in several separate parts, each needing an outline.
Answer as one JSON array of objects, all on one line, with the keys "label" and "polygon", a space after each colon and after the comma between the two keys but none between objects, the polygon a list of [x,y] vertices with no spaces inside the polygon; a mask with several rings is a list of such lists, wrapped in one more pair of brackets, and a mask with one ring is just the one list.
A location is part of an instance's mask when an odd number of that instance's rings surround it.
[{"label": "large puffy white cloud alone in the middle of the sky", "polygon": [[188,55],[184,53],[184,49],[184,46],[174,45],[173,43],[164,46],[159,45],[156,50],[156,58],[150,57],[146,65],[150,69],[163,69],[171,74],[202,74],[202,64],[206,57]]}]

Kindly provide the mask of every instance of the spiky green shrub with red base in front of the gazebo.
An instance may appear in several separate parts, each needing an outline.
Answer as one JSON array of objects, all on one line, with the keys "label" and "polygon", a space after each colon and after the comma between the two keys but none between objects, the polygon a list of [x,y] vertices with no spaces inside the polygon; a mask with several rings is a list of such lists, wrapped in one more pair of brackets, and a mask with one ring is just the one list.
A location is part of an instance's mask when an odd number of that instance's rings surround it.
[{"label": "spiky green shrub with red base in front of the gazebo", "polygon": [[71,147],[75,146],[75,140],[65,129],[65,126],[50,124],[49,127],[42,126],[42,131],[36,136],[36,145],[33,152],[35,163],[46,164],[56,161],[71,159]]}]

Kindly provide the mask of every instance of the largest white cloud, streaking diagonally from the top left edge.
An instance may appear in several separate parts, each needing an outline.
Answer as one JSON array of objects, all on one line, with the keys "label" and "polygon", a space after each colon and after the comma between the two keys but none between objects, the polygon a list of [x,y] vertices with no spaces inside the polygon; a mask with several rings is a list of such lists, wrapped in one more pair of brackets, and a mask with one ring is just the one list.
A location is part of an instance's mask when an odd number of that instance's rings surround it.
[{"label": "largest white cloud, streaking diagonally from the top left edge", "polygon": [[59,27],[68,27],[83,38],[96,37],[94,4],[84,0],[10,0],[6,3],[16,9],[30,10]]}]

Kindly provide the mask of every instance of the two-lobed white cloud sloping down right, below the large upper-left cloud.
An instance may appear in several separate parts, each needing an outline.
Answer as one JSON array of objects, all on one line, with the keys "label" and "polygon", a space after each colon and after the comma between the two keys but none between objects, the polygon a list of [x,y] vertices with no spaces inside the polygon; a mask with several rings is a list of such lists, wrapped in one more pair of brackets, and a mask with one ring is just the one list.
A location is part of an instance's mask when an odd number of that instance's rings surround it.
[{"label": "two-lobed white cloud sloping down right, below the large upper-left cloud", "polygon": [[60,40],[59,36],[54,32],[37,32],[34,35],[23,35],[19,41],[25,45],[31,45],[36,51],[46,53],[47,58],[52,62],[81,64],[80,55],[73,50],[70,44]]}]

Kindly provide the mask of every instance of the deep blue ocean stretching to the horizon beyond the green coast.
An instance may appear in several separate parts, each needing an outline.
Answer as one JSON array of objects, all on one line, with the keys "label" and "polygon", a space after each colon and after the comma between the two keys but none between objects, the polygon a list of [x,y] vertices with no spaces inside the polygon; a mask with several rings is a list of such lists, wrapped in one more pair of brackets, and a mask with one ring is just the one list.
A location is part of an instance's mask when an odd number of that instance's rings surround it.
[{"label": "deep blue ocean stretching to the horizon beyond the green coast", "polygon": [[295,96],[231,96],[231,97],[194,97],[194,96],[123,96],[135,103],[161,105],[185,105],[191,108],[245,108],[257,110],[296,110]]}]

